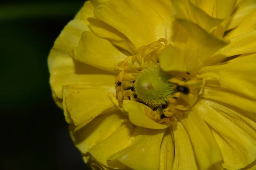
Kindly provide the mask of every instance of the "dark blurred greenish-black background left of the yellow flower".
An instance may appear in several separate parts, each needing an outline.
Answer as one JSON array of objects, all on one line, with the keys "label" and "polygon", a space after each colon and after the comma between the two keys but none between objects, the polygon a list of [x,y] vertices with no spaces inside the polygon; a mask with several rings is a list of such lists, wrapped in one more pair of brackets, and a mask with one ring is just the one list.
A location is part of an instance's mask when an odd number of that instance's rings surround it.
[{"label": "dark blurred greenish-black background left of the yellow flower", "polygon": [[52,100],[47,56],[84,0],[0,2],[0,170],[86,170]]}]

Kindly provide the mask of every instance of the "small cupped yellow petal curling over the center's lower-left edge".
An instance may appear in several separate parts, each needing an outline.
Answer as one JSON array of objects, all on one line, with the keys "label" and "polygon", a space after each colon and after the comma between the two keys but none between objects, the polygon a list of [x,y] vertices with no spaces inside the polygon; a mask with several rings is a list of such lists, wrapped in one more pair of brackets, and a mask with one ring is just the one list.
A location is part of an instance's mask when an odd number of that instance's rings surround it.
[{"label": "small cupped yellow petal curling over the center's lower-left edge", "polygon": [[170,125],[162,125],[155,122],[145,115],[145,109],[151,110],[148,106],[134,102],[131,100],[124,100],[122,107],[128,112],[129,120],[137,126],[146,127],[150,129],[165,129]]}]

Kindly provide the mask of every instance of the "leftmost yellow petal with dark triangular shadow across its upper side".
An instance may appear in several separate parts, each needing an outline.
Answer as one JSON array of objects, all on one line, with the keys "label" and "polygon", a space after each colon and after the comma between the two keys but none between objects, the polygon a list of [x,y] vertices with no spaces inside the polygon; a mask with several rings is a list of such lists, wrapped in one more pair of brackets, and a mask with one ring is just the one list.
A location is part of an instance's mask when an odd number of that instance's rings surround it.
[{"label": "leftmost yellow petal with dark triangular shadow across its upper side", "polygon": [[90,65],[74,61],[68,54],[52,49],[48,65],[52,90],[62,99],[62,85],[70,84],[111,84],[116,77]]}]

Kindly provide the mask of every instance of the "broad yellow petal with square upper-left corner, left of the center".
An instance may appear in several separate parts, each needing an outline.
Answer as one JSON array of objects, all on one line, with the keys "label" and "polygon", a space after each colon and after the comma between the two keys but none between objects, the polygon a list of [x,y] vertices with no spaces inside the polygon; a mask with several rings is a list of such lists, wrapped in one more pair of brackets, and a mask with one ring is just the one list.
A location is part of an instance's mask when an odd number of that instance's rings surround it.
[{"label": "broad yellow petal with square upper-left corner, left of the center", "polygon": [[114,85],[66,85],[63,89],[67,111],[76,125],[76,130],[103,111],[114,107],[108,98],[108,93],[115,90]]}]

